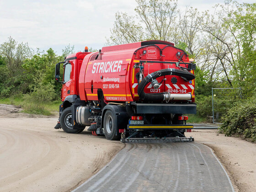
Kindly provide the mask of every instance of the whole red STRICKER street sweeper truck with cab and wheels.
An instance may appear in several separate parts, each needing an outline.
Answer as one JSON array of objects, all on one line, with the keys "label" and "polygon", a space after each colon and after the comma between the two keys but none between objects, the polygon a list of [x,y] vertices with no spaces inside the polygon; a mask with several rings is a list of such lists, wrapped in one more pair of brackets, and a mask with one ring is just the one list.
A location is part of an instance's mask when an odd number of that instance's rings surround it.
[{"label": "whole red STRICKER street sweeper truck with cab and wheels", "polygon": [[[64,75],[60,81],[60,64]],[[56,64],[63,84],[55,128],[121,141],[193,141],[195,64],[185,51],[165,41],[143,41],[74,53]]]}]

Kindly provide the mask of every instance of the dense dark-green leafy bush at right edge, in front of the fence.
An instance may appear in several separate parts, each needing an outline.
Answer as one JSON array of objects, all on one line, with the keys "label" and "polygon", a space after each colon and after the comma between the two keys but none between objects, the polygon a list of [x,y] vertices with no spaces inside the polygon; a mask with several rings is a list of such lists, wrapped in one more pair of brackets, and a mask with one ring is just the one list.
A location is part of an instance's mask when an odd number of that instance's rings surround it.
[{"label": "dense dark-green leafy bush at right edge, in front of the fence", "polygon": [[256,96],[237,103],[222,119],[220,133],[239,135],[256,142]]}]

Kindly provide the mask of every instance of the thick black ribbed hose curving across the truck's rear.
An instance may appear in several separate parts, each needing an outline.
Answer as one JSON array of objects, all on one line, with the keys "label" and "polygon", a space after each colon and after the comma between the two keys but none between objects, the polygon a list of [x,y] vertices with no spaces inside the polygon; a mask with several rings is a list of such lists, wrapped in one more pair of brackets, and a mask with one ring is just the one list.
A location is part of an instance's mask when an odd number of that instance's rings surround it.
[{"label": "thick black ribbed hose curving across the truck's rear", "polygon": [[[185,80],[193,80],[195,79],[195,75],[192,73],[181,70],[181,69],[161,69],[159,71],[155,71],[149,75],[147,75],[138,86],[138,94],[139,98],[145,101],[163,101],[165,93],[145,93],[144,88],[145,86],[151,82],[152,80],[156,79],[157,77],[161,77],[164,75],[177,75],[183,77]],[[128,113],[129,114],[129,113]]]}]

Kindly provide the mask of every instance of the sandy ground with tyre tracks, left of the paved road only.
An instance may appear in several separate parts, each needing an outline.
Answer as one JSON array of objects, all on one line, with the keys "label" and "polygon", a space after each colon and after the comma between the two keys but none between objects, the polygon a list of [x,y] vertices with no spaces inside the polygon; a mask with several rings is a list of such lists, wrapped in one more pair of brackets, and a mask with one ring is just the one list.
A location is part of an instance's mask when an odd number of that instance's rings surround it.
[{"label": "sandy ground with tyre tracks, left of the paved road only", "polygon": [[67,134],[53,128],[58,117],[34,118],[11,108],[0,105],[0,191],[70,191],[124,146],[91,132]]}]

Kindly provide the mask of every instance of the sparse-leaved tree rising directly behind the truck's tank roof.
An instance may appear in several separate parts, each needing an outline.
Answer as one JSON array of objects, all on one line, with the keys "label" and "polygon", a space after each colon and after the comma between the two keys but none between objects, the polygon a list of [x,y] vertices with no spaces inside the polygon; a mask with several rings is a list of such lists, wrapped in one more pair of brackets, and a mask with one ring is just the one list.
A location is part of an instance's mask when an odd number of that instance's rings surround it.
[{"label": "sparse-leaved tree rising directly behind the truck's tank roof", "polygon": [[136,16],[116,13],[108,44],[133,43],[142,40],[170,41],[177,15],[177,0],[136,0]]}]

